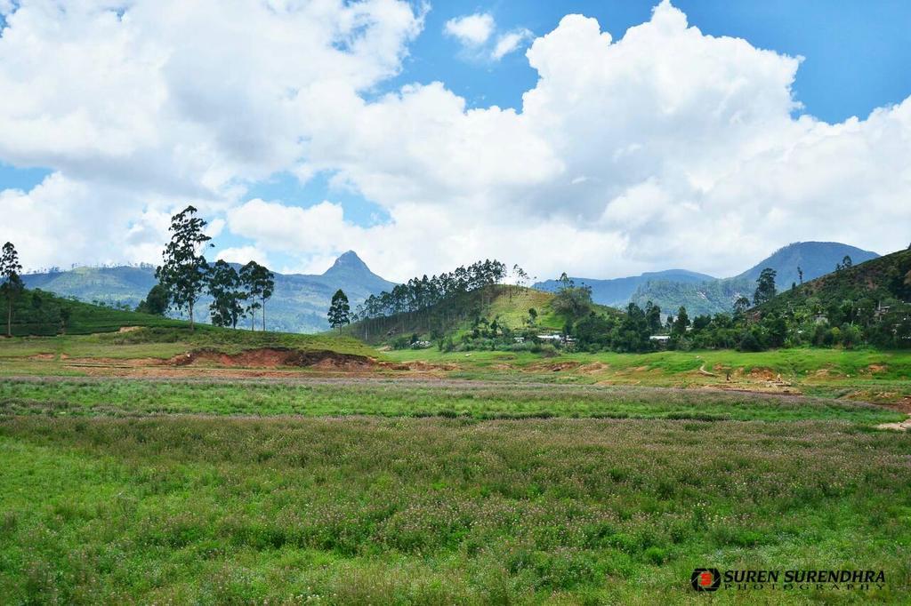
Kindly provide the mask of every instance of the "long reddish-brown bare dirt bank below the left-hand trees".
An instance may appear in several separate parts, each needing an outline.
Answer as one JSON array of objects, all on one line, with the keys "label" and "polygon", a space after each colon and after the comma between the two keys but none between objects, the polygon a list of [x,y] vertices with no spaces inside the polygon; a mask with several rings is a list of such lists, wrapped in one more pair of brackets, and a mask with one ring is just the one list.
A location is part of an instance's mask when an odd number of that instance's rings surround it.
[{"label": "long reddish-brown bare dirt bank below the left-hand trees", "polygon": [[190,366],[200,363],[248,369],[276,369],[280,367],[307,367],[320,370],[357,371],[372,369],[376,360],[366,356],[343,354],[328,349],[303,351],[292,348],[247,349],[236,354],[226,354],[212,349],[197,349],[169,359],[170,366]]}]

